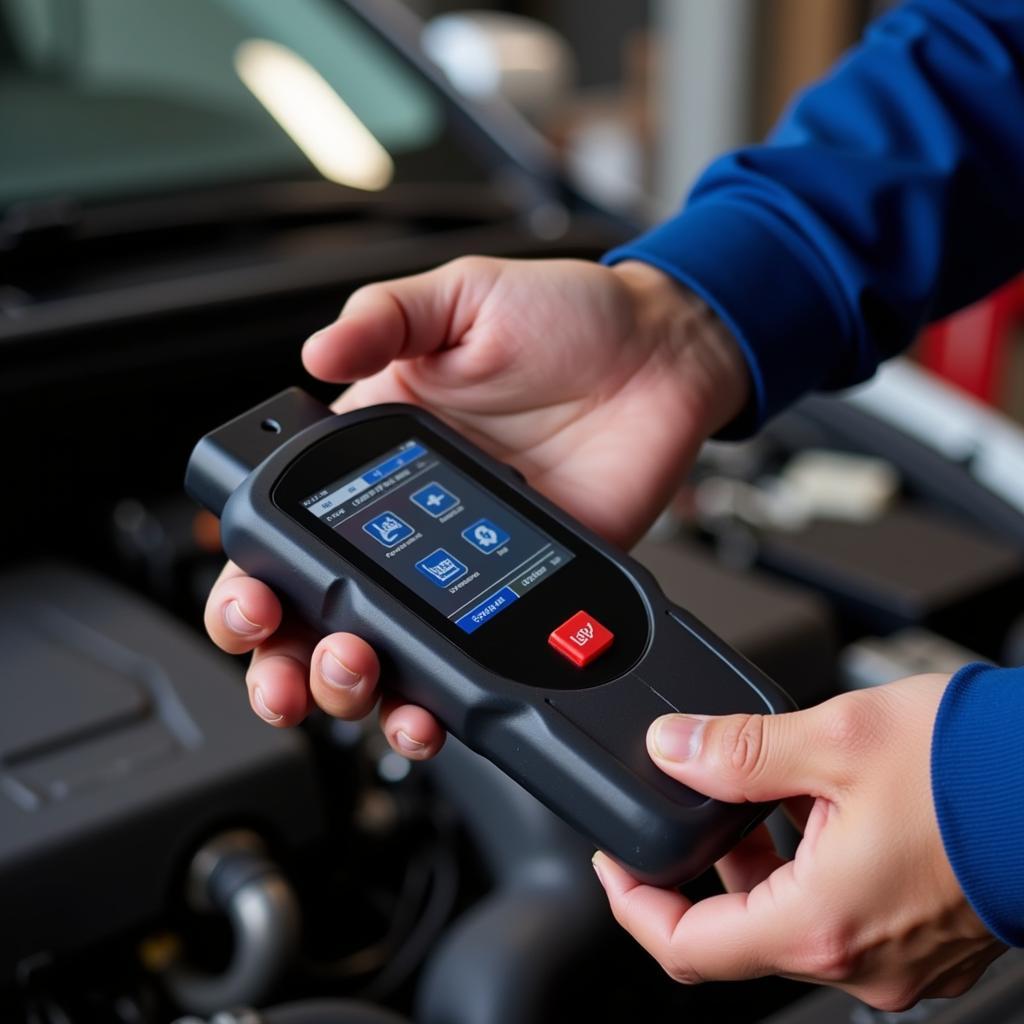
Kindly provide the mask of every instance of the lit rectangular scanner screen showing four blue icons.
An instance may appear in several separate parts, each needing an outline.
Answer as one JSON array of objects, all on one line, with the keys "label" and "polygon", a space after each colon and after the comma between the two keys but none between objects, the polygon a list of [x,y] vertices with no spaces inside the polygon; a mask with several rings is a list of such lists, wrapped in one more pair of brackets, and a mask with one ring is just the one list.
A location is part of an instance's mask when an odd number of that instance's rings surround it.
[{"label": "lit rectangular scanner screen showing four blue icons", "polygon": [[302,505],[466,633],[572,559],[415,438]]}]

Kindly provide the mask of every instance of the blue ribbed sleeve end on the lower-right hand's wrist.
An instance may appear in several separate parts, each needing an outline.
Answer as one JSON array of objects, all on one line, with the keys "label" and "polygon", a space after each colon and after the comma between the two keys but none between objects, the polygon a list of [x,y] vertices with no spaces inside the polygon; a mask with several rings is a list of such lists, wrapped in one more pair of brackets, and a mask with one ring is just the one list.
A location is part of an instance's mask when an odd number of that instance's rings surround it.
[{"label": "blue ribbed sleeve end on the lower-right hand's wrist", "polygon": [[1024,946],[1024,669],[969,665],[932,733],[932,796],[956,881],[978,916]]}]

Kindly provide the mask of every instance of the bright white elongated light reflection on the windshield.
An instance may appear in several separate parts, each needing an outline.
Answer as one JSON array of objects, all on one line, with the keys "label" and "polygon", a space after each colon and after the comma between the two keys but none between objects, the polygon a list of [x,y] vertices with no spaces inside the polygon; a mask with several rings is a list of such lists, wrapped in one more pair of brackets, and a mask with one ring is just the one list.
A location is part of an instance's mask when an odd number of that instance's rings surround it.
[{"label": "bright white elongated light reflection on the windshield", "polygon": [[294,50],[251,39],[234,52],[234,70],[324,177],[378,191],[394,176],[394,163],[370,129]]}]

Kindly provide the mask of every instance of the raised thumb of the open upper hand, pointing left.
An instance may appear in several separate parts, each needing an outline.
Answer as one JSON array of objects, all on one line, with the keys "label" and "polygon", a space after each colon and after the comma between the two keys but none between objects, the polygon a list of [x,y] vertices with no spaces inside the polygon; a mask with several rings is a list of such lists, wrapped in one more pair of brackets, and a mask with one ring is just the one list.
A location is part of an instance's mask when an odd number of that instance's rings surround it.
[{"label": "raised thumb of the open upper hand, pointing left", "polygon": [[343,383],[370,377],[392,359],[456,344],[497,274],[496,261],[463,257],[426,273],[353,292],[339,317],[302,349],[313,377]]}]

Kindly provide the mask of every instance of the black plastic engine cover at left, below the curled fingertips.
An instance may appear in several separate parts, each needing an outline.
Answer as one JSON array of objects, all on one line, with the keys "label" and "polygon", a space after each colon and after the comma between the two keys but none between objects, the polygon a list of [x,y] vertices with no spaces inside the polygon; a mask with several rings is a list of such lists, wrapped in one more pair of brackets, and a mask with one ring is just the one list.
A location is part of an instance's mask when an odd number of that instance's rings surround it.
[{"label": "black plastic engine cover at left, below the curled fingertips", "polygon": [[156,921],[225,824],[288,848],[322,829],[302,734],[134,594],[57,564],[0,578],[0,983]]}]

